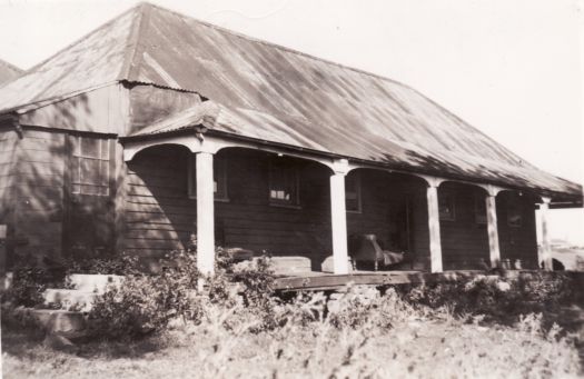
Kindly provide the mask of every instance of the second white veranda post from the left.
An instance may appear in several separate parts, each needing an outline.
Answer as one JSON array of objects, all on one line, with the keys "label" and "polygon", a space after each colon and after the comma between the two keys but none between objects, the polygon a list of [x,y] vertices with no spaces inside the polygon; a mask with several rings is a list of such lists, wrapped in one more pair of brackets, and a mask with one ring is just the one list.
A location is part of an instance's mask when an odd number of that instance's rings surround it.
[{"label": "second white veranda post from the left", "polygon": [[347,213],[345,206],[345,176],[347,162],[342,160],[330,176],[330,221],[333,229],[333,263],[337,275],[348,273]]}]

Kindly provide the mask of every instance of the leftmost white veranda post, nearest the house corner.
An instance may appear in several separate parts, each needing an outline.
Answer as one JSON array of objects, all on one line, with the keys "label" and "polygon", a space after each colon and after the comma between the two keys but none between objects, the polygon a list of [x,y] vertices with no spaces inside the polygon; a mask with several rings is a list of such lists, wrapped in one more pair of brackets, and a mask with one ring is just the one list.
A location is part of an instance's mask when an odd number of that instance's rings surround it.
[{"label": "leftmost white veranda post, nearest the house corner", "polygon": [[215,191],[212,153],[196,153],[197,169],[197,267],[206,275],[215,266]]}]

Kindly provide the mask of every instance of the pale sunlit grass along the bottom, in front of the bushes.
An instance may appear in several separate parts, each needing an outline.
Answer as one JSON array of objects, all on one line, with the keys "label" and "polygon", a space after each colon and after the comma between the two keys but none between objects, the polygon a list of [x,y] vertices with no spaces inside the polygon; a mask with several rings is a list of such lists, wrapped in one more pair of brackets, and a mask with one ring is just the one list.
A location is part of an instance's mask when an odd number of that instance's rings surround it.
[{"label": "pale sunlit grass along the bottom, in front of the bushes", "polygon": [[[570,378],[582,375],[582,308],[528,315],[513,325],[409,303],[389,290],[363,300],[350,290],[326,315],[323,295],[277,309],[264,331],[240,305],[214,306],[198,323],[175,322],[129,342],[91,341],[77,353],[42,336],[2,329],[4,378]],[[575,307],[575,308],[574,308]],[[329,307],[330,308],[330,307]],[[545,321],[544,321],[545,319]],[[284,322],[281,322],[284,320]]]}]

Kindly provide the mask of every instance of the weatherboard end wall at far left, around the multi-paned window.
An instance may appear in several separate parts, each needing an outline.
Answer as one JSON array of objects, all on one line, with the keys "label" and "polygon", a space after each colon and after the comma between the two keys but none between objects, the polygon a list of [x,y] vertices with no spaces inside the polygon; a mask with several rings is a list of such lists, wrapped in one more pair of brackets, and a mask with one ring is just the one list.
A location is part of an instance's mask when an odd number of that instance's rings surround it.
[{"label": "weatherboard end wall at far left, around the multi-paned window", "polygon": [[[21,256],[113,252],[115,180],[109,197],[72,195],[71,138],[31,127],[0,133],[0,223],[9,226],[9,266]],[[113,159],[111,164],[113,172]]]}]

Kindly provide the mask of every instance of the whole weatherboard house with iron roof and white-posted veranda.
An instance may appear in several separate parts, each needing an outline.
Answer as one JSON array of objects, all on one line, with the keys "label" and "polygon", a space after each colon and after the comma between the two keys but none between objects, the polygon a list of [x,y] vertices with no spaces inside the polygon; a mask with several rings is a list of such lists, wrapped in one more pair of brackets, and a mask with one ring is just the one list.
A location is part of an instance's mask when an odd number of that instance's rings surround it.
[{"label": "whole weatherboard house with iron roof and white-posted veranda", "polygon": [[206,272],[222,246],[344,275],[375,236],[410,270],[536,269],[561,207],[582,187],[405,84],[148,3],[0,88],[9,266],[195,235]]}]

